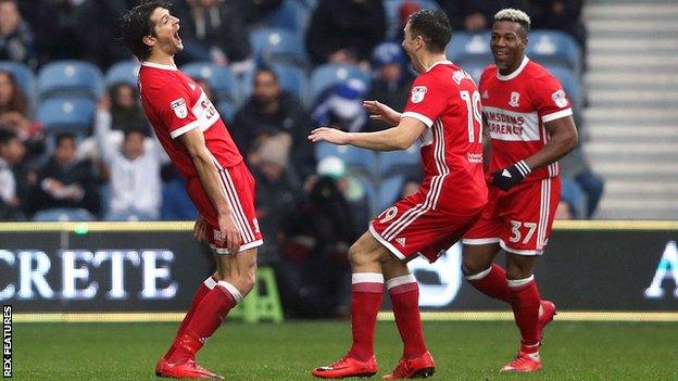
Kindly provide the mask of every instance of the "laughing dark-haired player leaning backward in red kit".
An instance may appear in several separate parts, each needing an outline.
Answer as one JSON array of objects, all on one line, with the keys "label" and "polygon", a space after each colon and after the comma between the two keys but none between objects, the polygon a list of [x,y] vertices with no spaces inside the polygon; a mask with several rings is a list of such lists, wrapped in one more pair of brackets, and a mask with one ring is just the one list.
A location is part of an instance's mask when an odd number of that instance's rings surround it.
[{"label": "laughing dark-haired player leaning backward in red kit", "polygon": [[[161,377],[221,378],[196,364],[196,353],[254,285],[262,236],[254,213],[254,179],[205,92],[177,69],[184,46],[179,20],[161,1],[145,2],[122,22],[125,45],[141,61],[143,111],[199,209],[198,240],[209,239],[217,271],[200,285],[155,372]],[[188,270],[188,269],[186,269]]]}]

